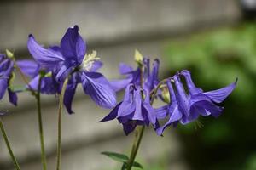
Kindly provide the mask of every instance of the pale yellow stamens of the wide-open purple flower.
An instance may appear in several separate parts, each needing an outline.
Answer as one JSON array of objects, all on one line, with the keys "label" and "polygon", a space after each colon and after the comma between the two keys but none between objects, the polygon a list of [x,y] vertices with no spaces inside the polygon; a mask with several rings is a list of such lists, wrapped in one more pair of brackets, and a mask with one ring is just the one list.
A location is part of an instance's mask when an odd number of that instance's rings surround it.
[{"label": "pale yellow stamens of the wide-open purple flower", "polygon": [[94,62],[96,60],[100,60],[99,57],[96,57],[96,54],[97,54],[96,51],[92,51],[91,54],[85,54],[83,62],[82,62],[81,65],[79,65],[79,68],[84,70],[84,71],[90,71]]}]

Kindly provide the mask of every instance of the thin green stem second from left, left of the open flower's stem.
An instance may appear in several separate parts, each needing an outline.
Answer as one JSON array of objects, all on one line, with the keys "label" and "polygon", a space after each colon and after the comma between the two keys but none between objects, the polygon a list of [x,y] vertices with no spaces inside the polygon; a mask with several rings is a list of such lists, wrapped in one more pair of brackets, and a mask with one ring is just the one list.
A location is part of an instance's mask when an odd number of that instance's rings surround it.
[{"label": "thin green stem second from left, left of the open flower's stem", "polygon": [[37,105],[38,105],[38,127],[39,127],[38,129],[39,129],[40,144],[41,144],[41,161],[42,161],[43,169],[46,170],[47,164],[46,164],[46,154],[44,149],[44,130],[43,130],[41,98],[40,98],[41,82],[42,82],[42,77],[40,75],[39,82],[38,82],[38,93],[36,95],[36,99],[37,99]]}]

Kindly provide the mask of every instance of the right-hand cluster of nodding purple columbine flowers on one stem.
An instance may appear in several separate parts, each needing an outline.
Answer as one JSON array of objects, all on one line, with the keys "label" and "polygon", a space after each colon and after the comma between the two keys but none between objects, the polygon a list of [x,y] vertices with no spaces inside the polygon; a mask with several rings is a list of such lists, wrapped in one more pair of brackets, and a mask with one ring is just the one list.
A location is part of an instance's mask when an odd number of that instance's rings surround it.
[{"label": "right-hand cluster of nodding purple columbine flowers on one stem", "polygon": [[[200,115],[217,117],[224,109],[217,104],[224,101],[236,88],[237,80],[225,88],[203,92],[201,88],[195,87],[190,72],[186,70],[177,72],[176,75],[161,83],[158,78],[159,60],[154,59],[151,72],[149,59],[143,58],[142,61],[136,70],[125,64],[119,66],[120,73],[127,75],[127,77],[111,83],[115,91],[126,87],[125,97],[101,121],[105,122],[117,118],[122,123],[126,135],[131,133],[137,125],[148,126],[152,124],[156,133],[162,135],[166,127],[177,127],[178,122],[187,124],[195,121]],[[182,78],[185,79],[185,87]],[[154,109],[153,102],[150,101],[156,98],[165,100],[165,88],[168,89],[169,102],[167,105]],[[188,89],[188,93],[185,89]],[[159,120],[162,119],[167,121],[163,126],[160,126]]]}]

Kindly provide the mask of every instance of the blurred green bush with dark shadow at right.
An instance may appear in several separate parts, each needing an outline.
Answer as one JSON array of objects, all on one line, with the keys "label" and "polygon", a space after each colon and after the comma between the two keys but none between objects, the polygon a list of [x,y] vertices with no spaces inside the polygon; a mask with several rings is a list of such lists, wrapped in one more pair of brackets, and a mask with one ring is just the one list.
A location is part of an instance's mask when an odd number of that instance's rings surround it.
[{"label": "blurred green bush with dark shadow at right", "polygon": [[185,156],[193,169],[256,169],[256,24],[218,28],[170,41],[166,60],[174,73],[192,71],[205,91],[222,88],[238,77],[218,119],[178,127]]}]

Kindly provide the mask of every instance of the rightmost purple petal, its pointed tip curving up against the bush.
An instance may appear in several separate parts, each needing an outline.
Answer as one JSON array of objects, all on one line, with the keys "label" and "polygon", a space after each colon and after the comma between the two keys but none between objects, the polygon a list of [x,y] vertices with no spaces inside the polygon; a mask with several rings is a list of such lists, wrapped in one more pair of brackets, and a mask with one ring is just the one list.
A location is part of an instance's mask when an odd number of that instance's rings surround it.
[{"label": "rightmost purple petal, its pointed tip curving up against the bush", "polygon": [[224,88],[220,88],[218,90],[213,90],[210,92],[206,92],[204,94],[206,94],[210,99],[212,99],[212,101],[214,101],[215,103],[221,103],[224,101],[224,99],[226,99],[231,92],[236,88],[236,83],[237,83],[237,79],[236,82],[231,83],[229,86],[224,87]]}]

